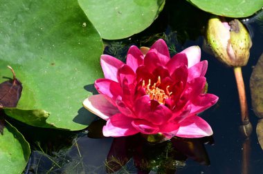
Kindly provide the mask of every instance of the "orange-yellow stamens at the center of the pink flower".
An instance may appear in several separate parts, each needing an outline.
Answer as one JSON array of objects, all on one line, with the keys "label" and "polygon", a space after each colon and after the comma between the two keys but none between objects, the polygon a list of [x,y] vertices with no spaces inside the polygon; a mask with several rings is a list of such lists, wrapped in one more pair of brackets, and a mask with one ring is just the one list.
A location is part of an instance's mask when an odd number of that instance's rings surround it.
[{"label": "orange-yellow stamens at the center of the pink flower", "polygon": [[158,80],[153,85],[151,84],[151,79],[149,79],[148,84],[145,85],[145,81],[143,80],[143,88],[145,88],[145,92],[149,95],[150,99],[156,99],[159,104],[165,104],[165,99],[169,98],[172,95],[172,92],[169,91],[170,86],[166,86],[165,90],[158,88],[161,84],[161,77],[158,76]]}]

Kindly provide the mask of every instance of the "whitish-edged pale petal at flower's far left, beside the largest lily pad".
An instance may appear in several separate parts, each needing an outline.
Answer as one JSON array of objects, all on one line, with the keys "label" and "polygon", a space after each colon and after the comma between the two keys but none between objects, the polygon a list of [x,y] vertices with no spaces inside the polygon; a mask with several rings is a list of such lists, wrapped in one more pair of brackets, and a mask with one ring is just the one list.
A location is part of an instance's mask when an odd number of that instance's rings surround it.
[{"label": "whitish-edged pale petal at flower's far left, beside the largest lily pad", "polygon": [[112,105],[103,95],[91,95],[91,97],[83,101],[84,108],[91,113],[98,115],[102,119],[108,120],[109,117],[120,113],[116,106]]}]

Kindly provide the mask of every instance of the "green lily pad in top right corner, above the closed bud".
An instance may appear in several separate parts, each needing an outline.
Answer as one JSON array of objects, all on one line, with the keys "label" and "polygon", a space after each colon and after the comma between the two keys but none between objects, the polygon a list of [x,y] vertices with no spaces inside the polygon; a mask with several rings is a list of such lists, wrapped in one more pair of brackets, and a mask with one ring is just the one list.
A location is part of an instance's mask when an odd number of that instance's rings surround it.
[{"label": "green lily pad in top right corner, above the closed bud", "polygon": [[187,0],[201,10],[224,17],[248,17],[260,10],[262,0]]}]

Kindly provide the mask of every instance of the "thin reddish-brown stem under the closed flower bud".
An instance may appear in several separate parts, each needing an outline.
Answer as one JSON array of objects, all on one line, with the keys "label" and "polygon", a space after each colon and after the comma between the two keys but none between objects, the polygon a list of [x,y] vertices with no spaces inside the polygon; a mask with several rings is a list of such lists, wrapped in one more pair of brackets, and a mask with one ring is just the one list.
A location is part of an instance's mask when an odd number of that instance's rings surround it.
[{"label": "thin reddish-brown stem under the closed flower bud", "polygon": [[[249,127],[251,127],[251,123],[249,122],[249,117],[248,117],[248,104],[246,102],[246,91],[245,91],[241,67],[240,66],[234,67],[234,73],[235,73],[235,80],[237,81],[237,90],[238,90],[239,104],[241,109],[242,126],[246,126],[250,124]],[[252,127],[249,132],[251,133],[251,131],[252,131]],[[250,133],[247,134],[245,131],[244,134],[246,137],[249,137]]]}]

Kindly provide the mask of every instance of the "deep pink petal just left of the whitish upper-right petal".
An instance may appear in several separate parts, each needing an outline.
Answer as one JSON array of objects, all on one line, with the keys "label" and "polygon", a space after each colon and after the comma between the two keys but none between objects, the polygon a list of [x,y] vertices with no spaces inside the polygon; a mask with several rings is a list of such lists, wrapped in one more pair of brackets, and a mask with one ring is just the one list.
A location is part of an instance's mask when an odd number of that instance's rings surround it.
[{"label": "deep pink petal just left of the whitish upper-right petal", "polygon": [[174,55],[166,64],[166,68],[170,71],[170,75],[172,75],[172,72],[180,66],[188,66],[188,58],[185,53],[182,52]]}]

